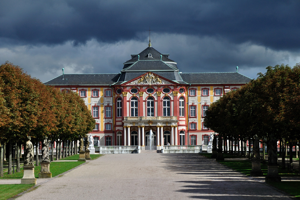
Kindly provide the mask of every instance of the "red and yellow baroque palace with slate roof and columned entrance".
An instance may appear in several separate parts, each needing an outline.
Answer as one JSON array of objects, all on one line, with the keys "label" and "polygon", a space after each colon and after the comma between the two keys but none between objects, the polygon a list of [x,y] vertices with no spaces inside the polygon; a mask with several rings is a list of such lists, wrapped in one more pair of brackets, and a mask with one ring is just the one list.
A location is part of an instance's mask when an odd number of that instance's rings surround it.
[{"label": "red and yellow baroque palace with slate roof and columned entrance", "polygon": [[[48,82],[77,92],[96,120],[94,146],[208,145],[203,125],[209,105],[250,82],[232,73],[181,73],[177,63],[149,47],[131,54],[120,73],[62,74]],[[150,144],[150,130],[153,142]]]}]

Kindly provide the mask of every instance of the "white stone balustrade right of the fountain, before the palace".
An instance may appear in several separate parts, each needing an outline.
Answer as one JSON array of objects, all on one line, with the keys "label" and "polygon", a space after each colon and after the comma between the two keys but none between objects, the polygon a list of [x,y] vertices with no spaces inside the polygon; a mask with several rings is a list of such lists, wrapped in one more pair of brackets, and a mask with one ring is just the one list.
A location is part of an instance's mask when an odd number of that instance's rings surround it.
[{"label": "white stone balustrade right of the fountain, before the palace", "polygon": [[202,145],[167,145],[161,149],[163,154],[202,153]]}]

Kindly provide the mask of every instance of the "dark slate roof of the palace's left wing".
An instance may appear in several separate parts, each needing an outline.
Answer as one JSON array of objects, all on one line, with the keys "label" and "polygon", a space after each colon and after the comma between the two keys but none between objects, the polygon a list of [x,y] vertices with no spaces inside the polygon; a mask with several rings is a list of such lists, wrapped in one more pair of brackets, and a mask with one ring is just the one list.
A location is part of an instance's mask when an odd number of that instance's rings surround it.
[{"label": "dark slate roof of the palace's left wing", "polygon": [[45,85],[113,85],[118,81],[116,74],[64,74],[45,82]]}]

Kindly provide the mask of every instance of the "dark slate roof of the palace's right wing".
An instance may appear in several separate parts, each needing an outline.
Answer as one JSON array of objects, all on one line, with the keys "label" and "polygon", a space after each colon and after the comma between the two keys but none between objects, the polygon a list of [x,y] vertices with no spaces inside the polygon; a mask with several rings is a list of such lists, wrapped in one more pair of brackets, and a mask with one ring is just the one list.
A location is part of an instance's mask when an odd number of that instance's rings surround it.
[{"label": "dark slate roof of the palace's right wing", "polygon": [[248,83],[252,79],[237,72],[224,73],[180,73],[189,84]]}]

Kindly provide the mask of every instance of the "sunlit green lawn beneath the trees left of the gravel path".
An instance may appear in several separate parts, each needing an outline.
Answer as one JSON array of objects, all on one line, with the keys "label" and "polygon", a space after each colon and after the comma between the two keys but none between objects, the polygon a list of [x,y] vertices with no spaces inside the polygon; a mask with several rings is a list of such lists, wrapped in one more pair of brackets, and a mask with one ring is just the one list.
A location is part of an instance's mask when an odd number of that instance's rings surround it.
[{"label": "sunlit green lawn beneath the trees left of the gravel path", "polygon": [[[102,154],[92,154],[90,155],[91,159],[96,159]],[[79,154],[60,159],[60,160],[78,160]],[[52,177],[60,175],[74,167],[81,165],[84,162],[51,162],[50,163],[50,172],[52,173]],[[15,168],[16,170],[16,168]],[[38,178],[38,173],[41,171],[41,166],[35,166],[35,177]],[[23,177],[23,168],[21,167],[21,172],[15,172],[12,175],[8,175],[7,172],[4,173],[4,177],[0,177],[1,179],[20,179]],[[31,187],[34,185],[32,184],[0,184],[0,200],[1,199],[9,199]]]}]

